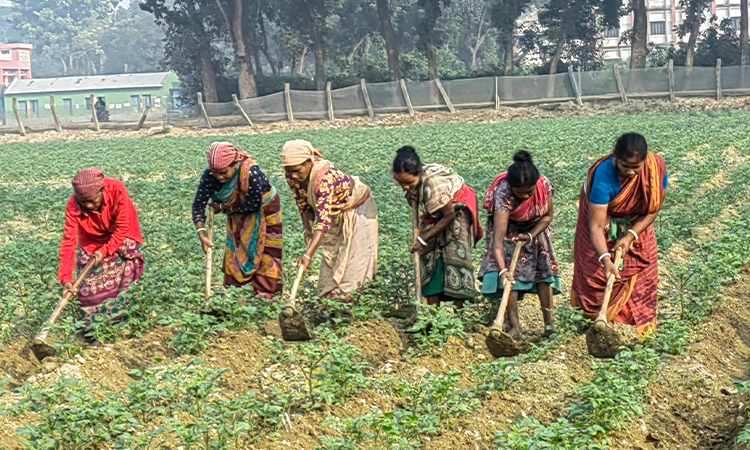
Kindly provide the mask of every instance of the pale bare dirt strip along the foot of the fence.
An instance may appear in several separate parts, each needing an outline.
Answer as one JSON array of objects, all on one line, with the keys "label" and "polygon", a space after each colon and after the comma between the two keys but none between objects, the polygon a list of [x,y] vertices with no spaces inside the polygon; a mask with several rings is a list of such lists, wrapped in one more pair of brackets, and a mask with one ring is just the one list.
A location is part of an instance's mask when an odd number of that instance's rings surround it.
[{"label": "pale bare dirt strip along the foot of the fence", "polygon": [[[678,113],[688,111],[710,111],[721,109],[748,109],[750,97],[728,97],[722,101],[706,98],[680,98],[675,103],[667,100],[631,100],[628,103],[617,101],[590,102],[579,107],[572,102],[555,103],[529,107],[503,107],[500,109],[470,109],[456,111],[451,114],[447,111],[439,112],[417,112],[414,116],[408,114],[382,114],[369,117],[355,117],[350,119],[337,119],[328,121],[296,121],[274,122],[268,124],[257,123],[249,127],[214,127],[207,128],[177,128],[172,127],[168,133],[153,134],[153,138],[165,136],[232,136],[237,134],[267,134],[286,131],[306,131],[316,129],[341,129],[341,128],[378,128],[378,127],[400,127],[416,124],[438,124],[438,123],[464,123],[464,122],[506,122],[511,120],[549,119],[556,117],[600,117],[611,115],[629,115],[643,113]],[[212,119],[215,125],[220,125],[218,119]],[[92,125],[93,127],[93,125]],[[115,128],[107,124],[107,127]],[[6,127],[7,130],[7,127]],[[11,142],[46,142],[46,141],[80,141],[93,139],[126,139],[148,137],[149,129],[141,131],[125,129],[103,129],[97,133],[93,129],[64,130],[62,133],[56,131],[34,131],[33,127],[27,127],[27,135],[0,134],[0,144]]]}]

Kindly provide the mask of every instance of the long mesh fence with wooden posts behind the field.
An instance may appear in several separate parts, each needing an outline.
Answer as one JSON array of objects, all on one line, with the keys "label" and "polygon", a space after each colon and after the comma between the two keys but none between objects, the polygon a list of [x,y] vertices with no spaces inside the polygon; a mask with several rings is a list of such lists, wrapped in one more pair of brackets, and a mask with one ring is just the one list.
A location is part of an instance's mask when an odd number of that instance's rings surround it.
[{"label": "long mesh fence with wooden posts behind the field", "polygon": [[[252,126],[255,123],[295,120],[330,120],[378,114],[411,114],[417,111],[530,106],[542,103],[584,102],[677,97],[713,97],[750,95],[750,66],[674,67],[672,61],[661,68],[620,70],[617,66],[602,71],[574,72],[554,75],[483,77],[458,80],[391,81],[366,83],[325,91],[291,90],[263,97],[232,102],[204,103],[198,94],[196,104],[181,109],[145,111],[137,115],[113,115],[107,127],[147,127],[169,124],[183,128]],[[34,131],[56,124],[37,119]],[[46,120],[46,122],[45,122]],[[11,121],[9,121],[11,122]],[[111,124],[111,125],[110,125]],[[23,131],[18,123],[11,129]],[[28,124],[32,126],[31,123]],[[66,128],[94,127],[90,121],[70,122]]]}]

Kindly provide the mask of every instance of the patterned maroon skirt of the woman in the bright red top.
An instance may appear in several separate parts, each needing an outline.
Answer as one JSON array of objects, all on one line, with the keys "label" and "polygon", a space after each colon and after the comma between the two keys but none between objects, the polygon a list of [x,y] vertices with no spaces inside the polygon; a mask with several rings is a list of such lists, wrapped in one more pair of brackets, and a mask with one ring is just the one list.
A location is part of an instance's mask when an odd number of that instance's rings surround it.
[{"label": "patterned maroon skirt of the woman in the bright red top", "polygon": [[[82,247],[76,249],[76,270],[82,272],[92,254]],[[91,325],[95,316],[115,323],[127,317],[130,299],[123,293],[143,276],[144,257],[141,244],[125,239],[117,252],[104,258],[83,280],[78,289],[78,301],[84,313],[84,323]]]}]

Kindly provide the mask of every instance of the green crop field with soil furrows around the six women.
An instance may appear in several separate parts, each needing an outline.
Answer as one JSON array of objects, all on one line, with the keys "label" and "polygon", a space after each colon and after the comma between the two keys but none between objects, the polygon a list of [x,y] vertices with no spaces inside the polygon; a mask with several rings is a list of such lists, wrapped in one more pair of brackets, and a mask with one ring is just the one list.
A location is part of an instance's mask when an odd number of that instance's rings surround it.
[{"label": "green crop field with soil furrows around the six women", "polygon": [[[590,322],[567,306],[577,201],[589,166],[627,131],[644,134],[670,174],[655,222],[659,331],[597,361],[583,336]],[[280,149],[295,138],[372,188],[380,254],[377,281],[353,305],[314,295],[318,255],[300,297],[325,304],[329,320],[317,340],[286,344],[283,301],[219,287],[220,273],[204,299],[191,204],[212,141],[251,153],[281,193],[292,277],[304,239]],[[496,305],[481,299],[459,314],[428,308],[405,332],[411,218],[390,164],[407,144],[454,167],[480,198],[514,152],[531,151],[555,187],[559,333],[495,360],[481,330]],[[146,272],[128,291],[130,319],[98,326],[99,344],[76,336],[72,303],[55,329],[58,356],[41,364],[28,343],[60,295],[70,179],[91,165],[128,187]],[[0,167],[0,448],[730,449],[750,439],[750,112],[15,143],[0,147]],[[215,241],[222,225],[217,216]],[[521,316],[542,327],[535,298]]]}]

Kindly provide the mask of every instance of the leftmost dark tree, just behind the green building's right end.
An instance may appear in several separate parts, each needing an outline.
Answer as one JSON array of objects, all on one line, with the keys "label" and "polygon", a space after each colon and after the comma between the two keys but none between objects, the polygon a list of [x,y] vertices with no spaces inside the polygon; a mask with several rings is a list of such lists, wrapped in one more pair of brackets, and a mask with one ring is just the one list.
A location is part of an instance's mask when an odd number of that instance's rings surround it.
[{"label": "leftmost dark tree, just behind the green building's right end", "polygon": [[[203,9],[195,0],[144,0],[140,8],[154,15],[157,25],[165,28],[165,58],[183,82],[202,88],[207,102],[218,102],[219,94],[214,72],[214,49],[204,23]],[[196,76],[196,70],[199,76]],[[200,86],[186,84],[200,80]],[[187,89],[186,89],[187,90]]]}]

